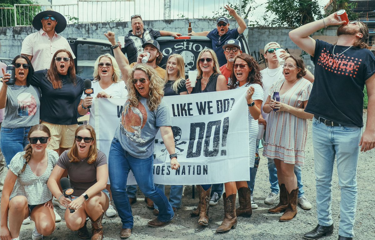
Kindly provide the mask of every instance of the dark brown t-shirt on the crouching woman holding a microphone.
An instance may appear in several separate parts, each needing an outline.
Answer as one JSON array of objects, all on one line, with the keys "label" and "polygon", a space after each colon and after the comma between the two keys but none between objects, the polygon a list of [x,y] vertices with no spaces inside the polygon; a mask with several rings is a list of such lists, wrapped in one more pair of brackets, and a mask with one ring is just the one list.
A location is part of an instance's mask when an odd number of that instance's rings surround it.
[{"label": "dark brown t-shirt on the crouching woman holding a microphone", "polygon": [[96,183],[96,168],[107,164],[107,157],[98,150],[98,157],[92,164],[87,163],[87,158],[80,162],[70,162],[68,151],[70,150],[66,150],[61,154],[56,164],[68,170],[71,187],[74,189],[72,195],[80,196]]}]

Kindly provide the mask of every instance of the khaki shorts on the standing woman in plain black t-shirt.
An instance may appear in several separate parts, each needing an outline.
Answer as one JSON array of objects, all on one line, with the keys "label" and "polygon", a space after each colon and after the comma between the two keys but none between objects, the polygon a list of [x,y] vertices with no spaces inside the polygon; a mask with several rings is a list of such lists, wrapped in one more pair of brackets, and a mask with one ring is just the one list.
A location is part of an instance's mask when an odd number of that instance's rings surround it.
[{"label": "khaki shorts on the standing woman in plain black t-shirt", "polygon": [[59,125],[43,121],[40,124],[45,125],[51,131],[51,142],[47,146],[48,149],[56,150],[59,148],[71,148],[73,146],[74,134],[78,128],[78,124]]}]

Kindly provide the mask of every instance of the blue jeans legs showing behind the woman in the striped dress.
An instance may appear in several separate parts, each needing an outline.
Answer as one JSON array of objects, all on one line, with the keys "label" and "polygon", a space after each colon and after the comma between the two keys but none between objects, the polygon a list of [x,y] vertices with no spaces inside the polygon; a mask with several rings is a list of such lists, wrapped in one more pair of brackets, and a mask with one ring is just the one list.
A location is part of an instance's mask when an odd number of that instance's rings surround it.
[{"label": "blue jeans legs showing behind the woman in the striped dress", "polygon": [[[267,158],[268,159],[268,171],[270,173],[270,183],[271,183],[271,192],[278,194],[279,189],[279,181],[278,181],[278,174],[276,170],[275,161],[273,161],[273,158]],[[294,174],[296,174],[297,177],[297,186],[298,186],[298,197],[302,197],[305,194],[305,191],[303,190],[303,183],[302,183],[302,174],[301,174],[301,166],[294,164]]]}]

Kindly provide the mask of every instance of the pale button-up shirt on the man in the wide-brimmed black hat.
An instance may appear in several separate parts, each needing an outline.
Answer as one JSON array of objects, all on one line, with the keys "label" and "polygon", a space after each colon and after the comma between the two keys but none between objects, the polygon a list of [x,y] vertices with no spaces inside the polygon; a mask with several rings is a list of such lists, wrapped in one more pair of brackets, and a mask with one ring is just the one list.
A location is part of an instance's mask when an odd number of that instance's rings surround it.
[{"label": "pale button-up shirt on the man in the wide-brimmed black hat", "polygon": [[34,70],[37,71],[49,69],[53,55],[60,49],[68,50],[75,58],[65,37],[55,32],[52,39],[49,39],[48,34],[43,31],[43,28],[40,28],[39,31],[31,33],[23,40],[21,54],[33,56],[31,64],[33,64]]}]

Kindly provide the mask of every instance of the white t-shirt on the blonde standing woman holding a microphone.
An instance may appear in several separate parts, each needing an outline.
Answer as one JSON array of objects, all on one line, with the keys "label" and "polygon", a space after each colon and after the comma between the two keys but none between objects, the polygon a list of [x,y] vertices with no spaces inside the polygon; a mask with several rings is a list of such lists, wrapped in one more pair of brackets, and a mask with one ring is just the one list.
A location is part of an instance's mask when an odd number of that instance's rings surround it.
[{"label": "white t-shirt on the blonde standing woman holding a microphone", "polygon": [[[112,83],[111,86],[109,86],[106,89],[101,88],[99,81],[93,80],[91,87],[94,90],[94,93],[91,95],[93,97],[93,103],[90,108],[90,120],[89,124],[95,128],[95,97],[96,94],[99,92],[105,92],[109,95],[111,95],[113,98],[126,98],[127,97],[127,90],[126,85],[124,81]],[[82,94],[81,99],[84,99],[86,97],[86,94]]]}]

